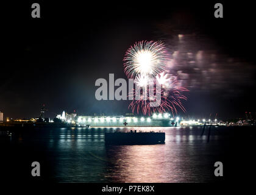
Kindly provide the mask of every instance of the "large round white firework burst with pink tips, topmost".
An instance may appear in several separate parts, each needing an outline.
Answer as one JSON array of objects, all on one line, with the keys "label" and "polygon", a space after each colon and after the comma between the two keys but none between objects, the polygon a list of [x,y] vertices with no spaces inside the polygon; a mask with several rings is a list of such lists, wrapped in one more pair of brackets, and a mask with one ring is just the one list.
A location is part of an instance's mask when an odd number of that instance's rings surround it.
[{"label": "large round white firework burst with pink tips, topmost", "polygon": [[156,76],[165,71],[169,59],[165,44],[157,41],[139,41],[127,50],[124,73],[127,77]]}]

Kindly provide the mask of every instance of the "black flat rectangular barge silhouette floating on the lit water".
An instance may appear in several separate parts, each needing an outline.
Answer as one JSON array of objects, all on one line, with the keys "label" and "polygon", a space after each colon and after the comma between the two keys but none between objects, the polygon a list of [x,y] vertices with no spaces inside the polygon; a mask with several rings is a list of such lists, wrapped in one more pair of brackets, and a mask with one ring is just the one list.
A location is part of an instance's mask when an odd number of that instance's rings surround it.
[{"label": "black flat rectangular barge silhouette floating on the lit water", "polygon": [[114,132],[105,133],[105,144],[131,145],[131,144],[163,144],[164,132]]}]

